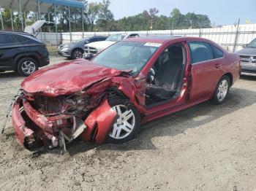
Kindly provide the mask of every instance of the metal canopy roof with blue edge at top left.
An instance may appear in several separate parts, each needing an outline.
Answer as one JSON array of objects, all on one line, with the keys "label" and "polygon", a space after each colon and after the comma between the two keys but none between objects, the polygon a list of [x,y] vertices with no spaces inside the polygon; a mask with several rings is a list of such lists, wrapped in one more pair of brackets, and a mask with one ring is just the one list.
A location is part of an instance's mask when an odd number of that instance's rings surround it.
[{"label": "metal canopy roof with blue edge at top left", "polygon": [[1,8],[13,9],[15,11],[33,11],[38,12],[38,3],[40,6],[40,12],[47,13],[48,9],[53,5],[61,5],[68,7],[83,8],[83,3],[71,0],[0,0]]}]

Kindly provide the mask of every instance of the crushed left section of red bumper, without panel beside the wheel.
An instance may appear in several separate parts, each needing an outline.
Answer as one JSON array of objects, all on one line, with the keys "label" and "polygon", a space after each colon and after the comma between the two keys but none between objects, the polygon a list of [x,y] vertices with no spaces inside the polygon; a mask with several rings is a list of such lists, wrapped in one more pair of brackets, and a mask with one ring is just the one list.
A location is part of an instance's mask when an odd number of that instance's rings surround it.
[{"label": "crushed left section of red bumper, without panel beside the wheel", "polygon": [[12,125],[19,144],[34,150],[42,146],[57,147],[58,130],[53,128],[56,121],[51,121],[33,109],[28,101],[18,97],[12,106]]}]

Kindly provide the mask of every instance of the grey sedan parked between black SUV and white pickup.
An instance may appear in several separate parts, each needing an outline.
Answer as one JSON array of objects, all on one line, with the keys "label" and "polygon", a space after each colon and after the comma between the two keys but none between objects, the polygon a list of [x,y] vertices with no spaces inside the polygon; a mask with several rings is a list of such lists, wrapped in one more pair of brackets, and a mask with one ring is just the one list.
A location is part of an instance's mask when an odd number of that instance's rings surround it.
[{"label": "grey sedan parked between black SUV and white pickup", "polygon": [[59,55],[66,58],[78,59],[83,58],[84,46],[91,42],[101,42],[107,39],[107,36],[91,36],[84,39],[80,39],[76,42],[70,42],[67,44],[61,44],[58,47]]}]

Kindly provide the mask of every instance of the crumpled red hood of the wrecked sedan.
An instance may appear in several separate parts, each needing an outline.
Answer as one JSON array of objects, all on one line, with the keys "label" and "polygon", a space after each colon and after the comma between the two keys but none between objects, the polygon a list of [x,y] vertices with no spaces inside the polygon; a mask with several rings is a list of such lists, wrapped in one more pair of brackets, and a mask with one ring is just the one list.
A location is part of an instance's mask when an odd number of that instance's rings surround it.
[{"label": "crumpled red hood of the wrecked sedan", "polygon": [[31,94],[67,95],[121,73],[122,71],[116,69],[109,69],[84,59],[78,59],[36,71],[21,83],[21,89]]}]

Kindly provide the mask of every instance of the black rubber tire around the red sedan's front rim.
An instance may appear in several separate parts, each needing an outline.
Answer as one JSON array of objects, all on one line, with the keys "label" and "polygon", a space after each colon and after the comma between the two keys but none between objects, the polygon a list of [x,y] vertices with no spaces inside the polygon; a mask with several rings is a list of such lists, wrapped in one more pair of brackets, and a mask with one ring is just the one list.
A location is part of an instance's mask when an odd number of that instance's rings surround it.
[{"label": "black rubber tire around the red sedan's front rim", "polygon": [[[128,136],[124,137],[123,139],[114,139],[113,137],[110,136],[110,133],[111,134],[113,133],[113,127],[115,125],[115,124],[113,124],[113,126],[110,128],[109,133],[106,136],[106,143],[122,144],[124,142],[135,139],[135,136],[138,134],[139,129],[140,129],[140,114],[137,111],[137,109],[135,108],[135,106],[129,104],[129,101],[127,101],[127,99],[124,99],[124,98],[113,98],[113,99],[109,100],[108,102],[109,102],[111,107],[118,106],[118,105],[123,105],[123,106],[126,106],[127,109],[131,109],[131,111],[133,112],[134,117],[135,117],[135,125],[134,125],[133,129],[131,130],[131,132],[129,133]],[[116,120],[115,123],[117,123],[117,122],[118,122],[118,119]]]}]

